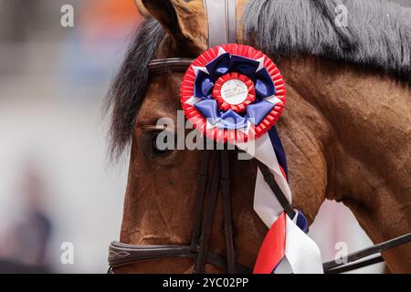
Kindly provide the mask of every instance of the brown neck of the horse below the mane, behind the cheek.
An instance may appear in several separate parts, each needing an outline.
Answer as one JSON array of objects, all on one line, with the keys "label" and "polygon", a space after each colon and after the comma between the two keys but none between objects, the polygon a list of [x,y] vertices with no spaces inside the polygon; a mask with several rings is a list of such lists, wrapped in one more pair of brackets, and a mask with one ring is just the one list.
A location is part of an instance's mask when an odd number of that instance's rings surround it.
[{"label": "brown neck of the horse below the mane, behind the cheek", "polygon": [[[382,242],[411,230],[411,90],[374,70],[336,64],[308,58],[280,68],[331,126],[327,198],[346,204]],[[409,247],[386,252],[393,271],[409,268]]]}]

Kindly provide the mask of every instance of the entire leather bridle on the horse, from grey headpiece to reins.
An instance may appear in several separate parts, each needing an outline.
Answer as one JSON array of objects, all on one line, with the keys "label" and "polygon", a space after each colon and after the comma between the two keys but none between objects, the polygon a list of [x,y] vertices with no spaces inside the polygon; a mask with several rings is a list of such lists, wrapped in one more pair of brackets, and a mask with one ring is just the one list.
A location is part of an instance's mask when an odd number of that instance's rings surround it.
[{"label": "entire leather bridle on the horse, from grey headpiece to reins", "polygon": [[[208,47],[220,44],[237,43],[236,0],[204,0],[208,18]],[[185,72],[193,63],[191,58],[161,58],[149,63],[149,75],[168,72]],[[227,273],[249,273],[236,260],[234,247],[234,230],[231,213],[230,195],[230,151],[204,150],[201,154],[195,193],[194,222],[190,245],[128,245],[112,242],[109,249],[109,273],[112,268],[127,266],[133,263],[158,260],[170,257],[188,257],[194,259],[193,273],[205,273],[205,265],[220,267]],[[256,160],[264,180],[276,195],[286,214],[293,218],[292,209],[284,193],[276,183],[269,168]],[[221,189],[221,192],[220,192]],[[209,250],[211,229],[216,211],[218,194],[222,193],[224,237],[227,256],[216,255]],[[342,273],[362,266],[373,265],[384,261],[376,256],[359,263],[350,264],[369,255],[381,253],[386,249],[404,245],[411,241],[411,233],[402,235],[385,243],[374,245],[346,257],[343,262],[331,261],[323,264],[325,273]]]}]

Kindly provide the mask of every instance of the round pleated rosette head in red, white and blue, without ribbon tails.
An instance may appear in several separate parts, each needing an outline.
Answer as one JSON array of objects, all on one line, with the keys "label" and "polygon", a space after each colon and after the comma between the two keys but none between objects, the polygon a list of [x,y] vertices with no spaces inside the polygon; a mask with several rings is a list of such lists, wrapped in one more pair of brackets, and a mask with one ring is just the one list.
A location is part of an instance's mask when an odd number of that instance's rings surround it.
[{"label": "round pleated rosette head in red, white and blue, without ribbon tails", "polygon": [[212,47],[187,69],[181,86],[186,118],[218,142],[256,139],[275,125],[285,106],[279,68],[253,47]]}]

